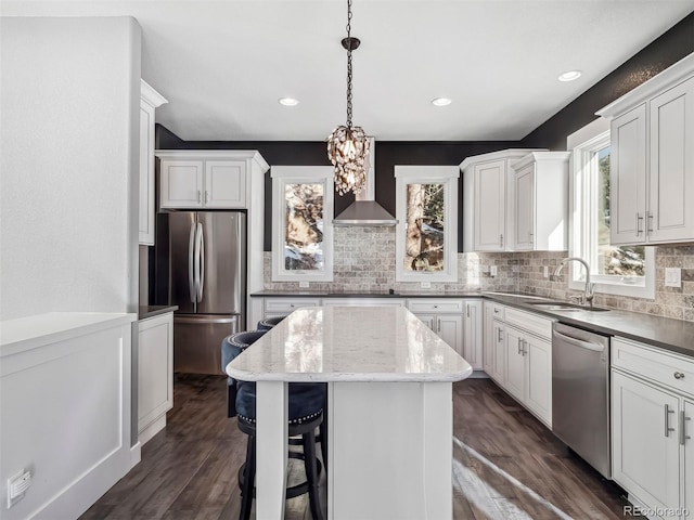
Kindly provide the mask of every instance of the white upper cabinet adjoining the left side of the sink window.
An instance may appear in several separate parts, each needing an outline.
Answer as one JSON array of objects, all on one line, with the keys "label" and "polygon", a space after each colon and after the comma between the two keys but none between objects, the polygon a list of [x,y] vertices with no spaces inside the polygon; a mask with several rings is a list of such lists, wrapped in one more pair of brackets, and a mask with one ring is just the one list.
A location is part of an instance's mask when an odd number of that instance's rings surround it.
[{"label": "white upper cabinet adjoining the left side of the sink window", "polygon": [[565,251],[569,152],[532,152],[512,165],[509,204],[513,250]]}]

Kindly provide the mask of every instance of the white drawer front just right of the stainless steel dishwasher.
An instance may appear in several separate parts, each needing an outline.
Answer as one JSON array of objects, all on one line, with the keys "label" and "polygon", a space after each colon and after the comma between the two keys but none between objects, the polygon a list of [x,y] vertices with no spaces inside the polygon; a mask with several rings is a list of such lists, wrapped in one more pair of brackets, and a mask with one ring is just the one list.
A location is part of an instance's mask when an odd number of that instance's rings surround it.
[{"label": "white drawer front just right of the stainless steel dishwasher", "polygon": [[612,366],[694,395],[694,359],[613,338]]}]

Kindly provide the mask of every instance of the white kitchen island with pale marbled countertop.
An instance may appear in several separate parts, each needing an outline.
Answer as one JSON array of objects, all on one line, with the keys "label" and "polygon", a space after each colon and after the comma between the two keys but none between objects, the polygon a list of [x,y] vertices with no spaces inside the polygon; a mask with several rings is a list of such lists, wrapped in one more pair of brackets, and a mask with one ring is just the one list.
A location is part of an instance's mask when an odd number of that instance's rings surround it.
[{"label": "white kitchen island with pale marbled countertop", "polygon": [[452,384],[472,367],[410,311],[299,309],[227,373],[257,381],[257,518],[283,517],[290,381],[327,382],[329,519],[452,517]]}]

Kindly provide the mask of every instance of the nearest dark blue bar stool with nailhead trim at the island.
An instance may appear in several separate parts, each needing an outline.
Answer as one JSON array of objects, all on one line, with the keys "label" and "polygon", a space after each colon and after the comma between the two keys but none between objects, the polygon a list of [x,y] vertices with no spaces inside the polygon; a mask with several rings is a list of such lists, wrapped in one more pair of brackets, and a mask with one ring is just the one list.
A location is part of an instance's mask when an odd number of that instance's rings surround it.
[{"label": "nearest dark blue bar stool with nailhead trim at the island", "polygon": [[[222,363],[230,363],[236,355],[260,338],[266,330],[250,330],[232,334],[222,341]],[[226,368],[226,364],[223,367]],[[228,413],[237,416],[239,429],[248,435],[246,461],[239,469],[239,487],[241,489],[241,512],[239,518],[250,518],[250,508],[255,495],[256,474],[256,385],[253,381],[228,384]],[[286,498],[304,493],[309,494],[311,517],[322,520],[319,503],[318,481],[321,463],[316,457],[316,428],[323,422],[323,404],[325,402],[325,385],[299,384],[288,385],[288,435],[301,437],[304,453],[290,451],[291,458],[304,460],[306,482],[286,489]],[[231,403],[233,402],[233,408]],[[233,415],[231,415],[233,414]]]}]

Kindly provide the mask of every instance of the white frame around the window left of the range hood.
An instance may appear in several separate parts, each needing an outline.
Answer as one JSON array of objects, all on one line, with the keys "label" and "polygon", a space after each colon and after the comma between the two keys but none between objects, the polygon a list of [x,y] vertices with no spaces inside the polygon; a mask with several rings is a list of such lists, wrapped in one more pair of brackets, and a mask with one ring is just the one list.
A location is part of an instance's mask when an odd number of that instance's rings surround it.
[{"label": "white frame around the window left of the range hood", "polygon": [[[332,166],[273,166],[272,179],[272,282],[332,282],[333,281],[333,217],[334,169]],[[286,238],[287,184],[323,184],[323,269],[316,271],[284,268]]]}]

